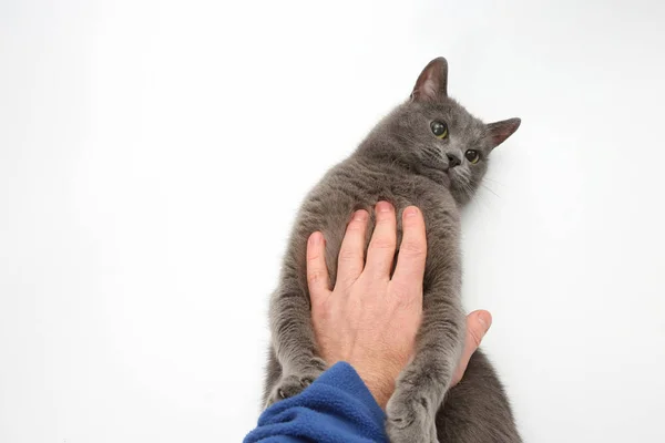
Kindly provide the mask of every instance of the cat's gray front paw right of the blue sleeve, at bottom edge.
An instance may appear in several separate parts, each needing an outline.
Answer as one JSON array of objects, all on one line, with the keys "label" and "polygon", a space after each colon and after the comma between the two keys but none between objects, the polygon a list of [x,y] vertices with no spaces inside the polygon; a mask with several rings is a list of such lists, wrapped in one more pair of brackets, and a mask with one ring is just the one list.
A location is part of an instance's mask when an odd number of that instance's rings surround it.
[{"label": "cat's gray front paw right of the blue sleeve, at bottom edge", "polygon": [[417,395],[393,395],[386,408],[390,443],[438,443],[436,408]]}]

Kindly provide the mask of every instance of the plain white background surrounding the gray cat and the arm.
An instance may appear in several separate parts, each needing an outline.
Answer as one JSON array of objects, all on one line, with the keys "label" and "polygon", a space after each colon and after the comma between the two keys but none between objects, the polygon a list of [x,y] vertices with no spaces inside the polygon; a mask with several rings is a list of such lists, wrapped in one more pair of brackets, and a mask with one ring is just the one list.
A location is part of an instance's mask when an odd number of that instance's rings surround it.
[{"label": "plain white background surrounding the gray cat and the arm", "polygon": [[241,441],[301,197],[438,55],[522,117],[463,249],[525,441],[665,441],[664,4],[2,1],[0,441]]}]

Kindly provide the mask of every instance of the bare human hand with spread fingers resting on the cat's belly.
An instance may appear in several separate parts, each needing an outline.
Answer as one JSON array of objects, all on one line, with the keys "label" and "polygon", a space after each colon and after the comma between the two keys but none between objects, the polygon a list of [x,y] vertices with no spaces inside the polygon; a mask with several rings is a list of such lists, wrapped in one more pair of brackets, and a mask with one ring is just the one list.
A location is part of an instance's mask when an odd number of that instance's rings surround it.
[{"label": "bare human hand with spread fingers resting on the cat's belly", "polygon": [[[369,215],[354,214],[339,251],[337,281],[329,288],[325,240],[314,233],[307,245],[307,281],[311,317],[321,358],[328,364],[350,363],[377,402],[385,408],[395,380],[415,350],[422,317],[422,278],[427,256],[424,220],[416,207],[402,214],[402,241],[390,278],[397,247],[395,208],[380,202],[376,227],[364,257]],[[487,311],[467,319],[464,353],[456,371],[459,382],[491,323]]]}]

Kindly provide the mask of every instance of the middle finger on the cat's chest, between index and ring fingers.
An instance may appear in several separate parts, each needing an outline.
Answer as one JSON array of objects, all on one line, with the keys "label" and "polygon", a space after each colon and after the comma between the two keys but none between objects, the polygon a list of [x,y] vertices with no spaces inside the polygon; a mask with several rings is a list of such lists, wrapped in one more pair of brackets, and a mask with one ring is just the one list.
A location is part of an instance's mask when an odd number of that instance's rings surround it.
[{"label": "middle finger on the cat's chest, between index and ring fingers", "polygon": [[397,222],[395,208],[388,202],[377,203],[375,209],[377,224],[375,226],[369,248],[367,249],[367,264],[365,269],[374,275],[390,276],[395,260],[397,245]]}]

